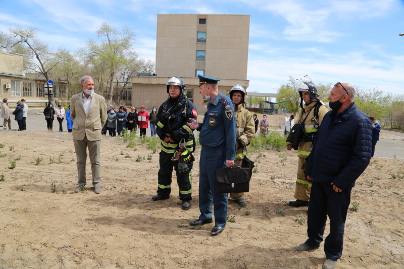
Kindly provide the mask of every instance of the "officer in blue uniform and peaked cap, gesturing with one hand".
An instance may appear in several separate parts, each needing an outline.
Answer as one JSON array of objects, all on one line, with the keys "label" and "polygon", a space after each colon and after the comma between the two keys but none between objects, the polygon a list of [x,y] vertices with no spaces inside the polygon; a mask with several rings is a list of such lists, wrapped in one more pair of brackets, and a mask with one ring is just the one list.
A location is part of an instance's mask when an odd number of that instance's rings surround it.
[{"label": "officer in blue uniform and peaked cap, gesturing with one hand", "polygon": [[190,119],[187,123],[199,133],[202,145],[199,160],[199,210],[200,216],[191,226],[212,223],[212,201],[215,203],[215,227],[212,235],[223,232],[227,218],[227,194],[215,190],[215,170],[224,165],[234,165],[236,154],[236,120],[233,102],[218,90],[219,79],[198,75],[199,93],[209,100],[204,122]]}]

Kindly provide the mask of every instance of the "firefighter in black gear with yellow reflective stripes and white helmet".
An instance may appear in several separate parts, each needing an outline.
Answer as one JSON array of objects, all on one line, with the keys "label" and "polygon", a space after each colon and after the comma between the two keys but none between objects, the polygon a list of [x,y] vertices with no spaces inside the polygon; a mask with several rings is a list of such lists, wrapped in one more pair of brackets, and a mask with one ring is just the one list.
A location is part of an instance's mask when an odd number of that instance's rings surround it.
[{"label": "firefighter in black gear with yellow reflective stripes and white helmet", "polygon": [[153,201],[170,198],[173,168],[177,176],[181,208],[191,208],[191,169],[193,165],[194,137],[187,125],[189,119],[197,119],[195,105],[185,95],[186,86],[179,77],[172,77],[167,83],[169,98],[157,113],[156,133],[160,137],[160,170],[157,195]]}]

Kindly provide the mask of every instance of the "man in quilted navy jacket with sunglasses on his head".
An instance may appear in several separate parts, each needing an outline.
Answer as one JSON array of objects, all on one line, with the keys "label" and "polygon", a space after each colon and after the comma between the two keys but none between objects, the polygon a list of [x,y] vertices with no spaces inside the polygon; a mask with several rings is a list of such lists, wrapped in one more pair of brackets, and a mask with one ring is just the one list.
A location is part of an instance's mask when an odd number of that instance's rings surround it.
[{"label": "man in quilted navy jacket with sunglasses on his head", "polygon": [[355,181],[365,171],[372,153],[372,125],[354,103],[355,89],[337,82],[331,90],[331,111],[320,126],[306,167],[312,181],[307,233],[309,239],[297,247],[309,251],[320,247],[327,216],[330,233],[324,241],[323,268],[336,268],[342,255],[346,214]]}]

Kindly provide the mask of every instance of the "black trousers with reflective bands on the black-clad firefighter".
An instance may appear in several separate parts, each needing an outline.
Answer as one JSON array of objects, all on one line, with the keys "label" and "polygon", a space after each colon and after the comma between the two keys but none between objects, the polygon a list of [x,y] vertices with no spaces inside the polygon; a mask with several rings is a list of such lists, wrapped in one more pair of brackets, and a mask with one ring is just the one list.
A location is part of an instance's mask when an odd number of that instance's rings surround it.
[{"label": "black trousers with reflective bands on the black-clad firefighter", "polygon": [[163,196],[168,196],[171,193],[171,178],[173,174],[173,169],[177,176],[177,183],[179,187],[178,194],[180,200],[190,201],[192,200],[192,179],[191,179],[191,169],[193,162],[188,162],[187,166],[189,169],[189,174],[182,175],[178,173],[177,162],[173,162],[171,157],[173,153],[167,153],[164,151],[160,152],[160,170],[158,173],[159,186],[157,188],[157,193]]}]

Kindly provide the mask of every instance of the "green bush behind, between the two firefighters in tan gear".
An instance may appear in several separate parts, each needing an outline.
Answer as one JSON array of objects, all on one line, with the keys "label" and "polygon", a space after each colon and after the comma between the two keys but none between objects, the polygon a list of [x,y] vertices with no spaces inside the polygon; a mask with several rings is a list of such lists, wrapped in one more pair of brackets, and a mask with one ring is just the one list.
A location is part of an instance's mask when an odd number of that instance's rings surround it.
[{"label": "green bush behind, between the two firefighters in tan gear", "polygon": [[250,150],[276,150],[282,151],[286,146],[286,137],[278,132],[272,131],[268,136],[256,135],[250,143]]}]

